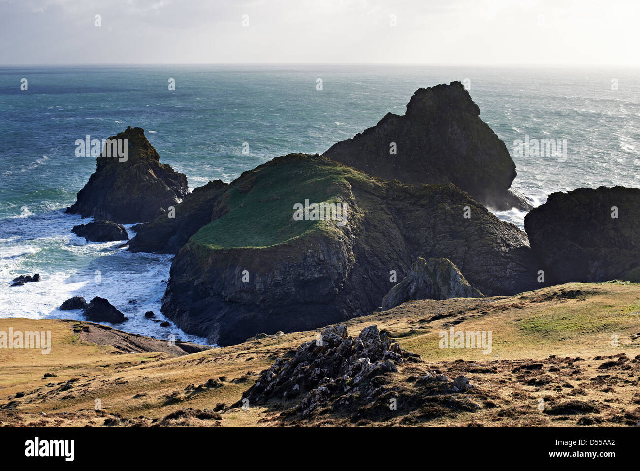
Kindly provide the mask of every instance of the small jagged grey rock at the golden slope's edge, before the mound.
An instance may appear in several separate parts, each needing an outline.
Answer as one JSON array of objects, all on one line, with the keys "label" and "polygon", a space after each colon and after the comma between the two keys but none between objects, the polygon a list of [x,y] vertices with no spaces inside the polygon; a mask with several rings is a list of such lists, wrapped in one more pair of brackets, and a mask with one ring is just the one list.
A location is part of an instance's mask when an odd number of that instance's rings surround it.
[{"label": "small jagged grey rock at the golden slope's edge, before the mound", "polygon": [[394,286],[382,299],[384,310],[417,299],[481,298],[458,267],[448,259],[419,258],[413,262],[409,275]]}]

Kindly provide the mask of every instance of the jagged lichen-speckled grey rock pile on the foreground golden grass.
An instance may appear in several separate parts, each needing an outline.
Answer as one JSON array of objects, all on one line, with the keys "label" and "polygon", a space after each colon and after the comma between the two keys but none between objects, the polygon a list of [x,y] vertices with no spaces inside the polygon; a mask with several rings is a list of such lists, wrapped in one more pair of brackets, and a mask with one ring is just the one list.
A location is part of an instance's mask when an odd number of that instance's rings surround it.
[{"label": "jagged lichen-speckled grey rock pile on the foreground golden grass", "polygon": [[373,378],[397,372],[404,362],[421,361],[419,355],[401,349],[376,326],[364,328],[355,339],[348,337],[346,326],[327,327],[316,340],[304,342],[292,358],[278,358],[262,371],[234,406],[297,398],[294,410],[305,417],[349,397],[367,403],[383,390]]}]

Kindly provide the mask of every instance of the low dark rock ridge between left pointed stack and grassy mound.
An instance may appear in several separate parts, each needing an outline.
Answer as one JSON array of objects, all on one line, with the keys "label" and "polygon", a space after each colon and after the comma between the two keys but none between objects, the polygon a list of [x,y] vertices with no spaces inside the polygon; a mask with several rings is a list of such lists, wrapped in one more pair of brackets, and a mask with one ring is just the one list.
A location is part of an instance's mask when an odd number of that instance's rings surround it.
[{"label": "low dark rock ridge between left pointed stack and grassy mound", "polygon": [[209,182],[193,190],[176,205],[175,214],[161,214],[150,223],[135,226],[137,233],[129,241],[129,250],[177,253],[191,235],[211,221],[214,204],[226,189],[227,184],[222,180]]}]

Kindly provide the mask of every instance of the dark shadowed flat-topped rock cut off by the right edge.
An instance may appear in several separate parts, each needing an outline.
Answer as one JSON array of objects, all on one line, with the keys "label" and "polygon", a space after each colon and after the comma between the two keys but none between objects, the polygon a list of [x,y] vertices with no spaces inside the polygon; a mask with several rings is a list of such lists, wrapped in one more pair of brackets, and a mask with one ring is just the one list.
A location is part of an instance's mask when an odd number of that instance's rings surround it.
[{"label": "dark shadowed flat-topped rock cut off by the right edge", "polygon": [[550,195],[524,221],[547,281],[607,281],[639,267],[638,208],[637,188],[600,186]]}]

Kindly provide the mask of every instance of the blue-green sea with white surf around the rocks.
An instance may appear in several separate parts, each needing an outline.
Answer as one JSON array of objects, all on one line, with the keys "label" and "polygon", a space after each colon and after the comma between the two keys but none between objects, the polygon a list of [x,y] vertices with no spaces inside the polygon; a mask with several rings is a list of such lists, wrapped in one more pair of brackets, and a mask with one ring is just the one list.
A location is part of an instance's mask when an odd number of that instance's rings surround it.
[{"label": "blue-green sea with white surf around the rocks", "polygon": [[[506,143],[518,172],[513,187],[534,206],[580,186],[640,186],[639,69],[0,66],[0,317],[83,319],[58,307],[101,296],[128,317],[122,330],[206,343],[144,317],[152,310],[166,320],[170,255],[129,253],[70,232],[90,221],[64,210],[95,170],[95,157],[76,156],[77,140],[142,127],[161,162],[193,189],[288,152],[322,153],[388,111],[403,114],[417,88],[456,80]],[[537,152],[536,140],[559,147]],[[524,227],[522,211],[495,214]],[[10,287],[34,273],[40,282]]]}]

